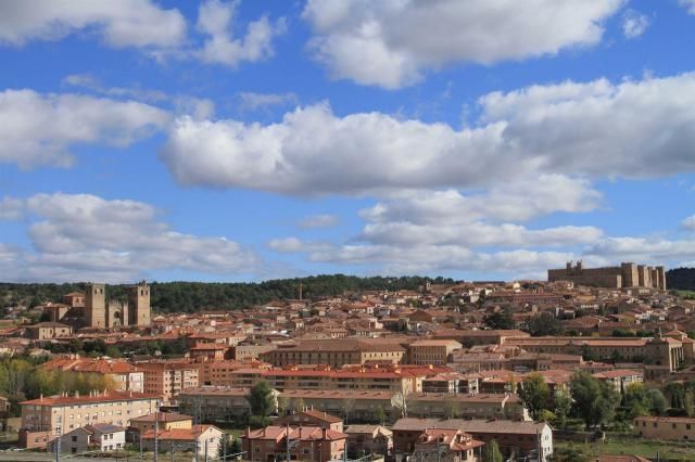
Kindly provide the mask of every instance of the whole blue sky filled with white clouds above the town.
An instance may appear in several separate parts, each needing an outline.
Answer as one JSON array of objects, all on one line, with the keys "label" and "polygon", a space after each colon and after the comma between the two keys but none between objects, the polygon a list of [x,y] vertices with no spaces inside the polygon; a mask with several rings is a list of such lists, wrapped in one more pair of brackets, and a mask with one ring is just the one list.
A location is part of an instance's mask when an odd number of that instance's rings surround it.
[{"label": "whole blue sky filled with white clouds above the town", "polygon": [[695,266],[695,0],[0,2],[0,281]]}]

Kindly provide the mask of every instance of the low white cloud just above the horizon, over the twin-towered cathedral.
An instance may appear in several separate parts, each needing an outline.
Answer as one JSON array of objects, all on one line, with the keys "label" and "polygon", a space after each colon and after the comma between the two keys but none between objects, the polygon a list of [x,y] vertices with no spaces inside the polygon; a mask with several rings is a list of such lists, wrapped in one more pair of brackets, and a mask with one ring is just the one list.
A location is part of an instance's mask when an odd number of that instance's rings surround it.
[{"label": "low white cloud just above the horizon, over the twin-towered cathedral", "polygon": [[27,279],[126,281],[156,269],[238,274],[260,262],[225,238],[172,230],[137,201],[55,193],[23,200],[22,207],[37,218],[29,226],[34,252],[11,255],[21,260],[16,274]]}]

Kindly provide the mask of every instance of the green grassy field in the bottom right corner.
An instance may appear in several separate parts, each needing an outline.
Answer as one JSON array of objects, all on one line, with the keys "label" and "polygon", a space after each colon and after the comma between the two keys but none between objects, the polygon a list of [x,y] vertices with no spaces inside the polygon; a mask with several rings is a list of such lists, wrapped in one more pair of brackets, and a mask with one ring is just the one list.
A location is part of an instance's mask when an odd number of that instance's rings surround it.
[{"label": "green grassy field in the bottom right corner", "polygon": [[634,437],[607,437],[605,442],[590,444],[557,441],[556,448],[573,448],[586,455],[628,454],[642,455],[656,460],[657,453],[661,459],[677,461],[695,461],[695,442],[654,441]]}]

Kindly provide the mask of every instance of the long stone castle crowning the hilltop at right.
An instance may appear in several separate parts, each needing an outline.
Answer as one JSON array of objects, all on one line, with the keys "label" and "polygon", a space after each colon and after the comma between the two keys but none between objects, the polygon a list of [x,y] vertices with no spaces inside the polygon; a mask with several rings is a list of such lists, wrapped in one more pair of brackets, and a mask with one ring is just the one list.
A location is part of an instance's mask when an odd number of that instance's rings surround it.
[{"label": "long stone castle crowning the hilltop at right", "polygon": [[662,266],[647,267],[622,262],[619,267],[584,268],[581,261],[571,261],[563,269],[547,270],[548,282],[570,281],[578,285],[598,287],[647,287],[666,291],[666,270]]}]

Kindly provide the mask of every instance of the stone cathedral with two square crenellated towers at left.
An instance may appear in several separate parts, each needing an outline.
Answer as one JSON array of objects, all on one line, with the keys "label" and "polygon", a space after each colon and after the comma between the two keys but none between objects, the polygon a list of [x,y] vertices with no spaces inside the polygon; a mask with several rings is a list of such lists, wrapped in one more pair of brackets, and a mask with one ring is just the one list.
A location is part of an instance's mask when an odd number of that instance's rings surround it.
[{"label": "stone cathedral with two square crenellated towers at left", "polygon": [[150,286],[144,282],[128,287],[128,300],[106,303],[105,284],[87,284],[86,293],[63,296],[63,304],[45,307],[51,321],[73,328],[111,329],[150,325]]}]

